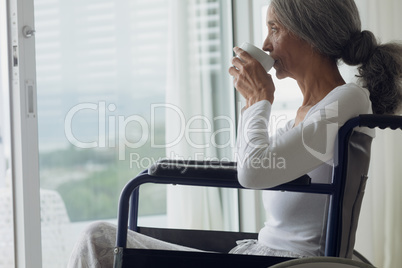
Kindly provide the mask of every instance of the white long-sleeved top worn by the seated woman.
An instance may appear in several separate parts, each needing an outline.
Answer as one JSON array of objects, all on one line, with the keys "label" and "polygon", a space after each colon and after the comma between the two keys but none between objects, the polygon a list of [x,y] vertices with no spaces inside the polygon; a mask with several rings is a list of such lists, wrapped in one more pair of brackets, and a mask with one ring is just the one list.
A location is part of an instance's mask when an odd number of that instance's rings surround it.
[{"label": "white long-sleeved top worn by the seated woman", "polygon": [[[339,128],[359,114],[371,114],[369,92],[355,84],[333,89],[313,106],[304,120],[270,135],[271,103],[260,101],[242,111],[238,130],[237,170],[241,185],[266,189],[308,174],[313,182],[332,178],[334,144]],[[357,131],[374,137],[374,131]],[[264,191],[268,219],[259,242],[302,256],[324,254],[325,195]]]}]

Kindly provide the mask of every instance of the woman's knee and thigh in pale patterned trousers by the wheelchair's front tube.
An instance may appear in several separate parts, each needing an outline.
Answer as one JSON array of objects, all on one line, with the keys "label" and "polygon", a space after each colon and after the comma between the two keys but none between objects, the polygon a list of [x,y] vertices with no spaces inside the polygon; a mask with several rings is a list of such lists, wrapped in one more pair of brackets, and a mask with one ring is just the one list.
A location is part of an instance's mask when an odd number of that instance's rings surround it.
[{"label": "woman's knee and thigh in pale patterned trousers by the wheelchair's front tube", "polygon": [[[93,223],[84,231],[74,246],[68,268],[113,267],[113,250],[116,241],[116,226],[110,223]],[[131,230],[127,234],[128,248],[199,251],[160,241]]]}]

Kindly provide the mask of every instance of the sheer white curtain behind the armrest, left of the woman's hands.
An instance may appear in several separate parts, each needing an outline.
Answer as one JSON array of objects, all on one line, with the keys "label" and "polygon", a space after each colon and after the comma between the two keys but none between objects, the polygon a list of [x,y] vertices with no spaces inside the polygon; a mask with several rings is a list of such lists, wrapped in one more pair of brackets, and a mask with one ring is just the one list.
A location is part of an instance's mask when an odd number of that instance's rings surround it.
[{"label": "sheer white curtain behind the armrest, left of the woman's hands", "polygon": [[[220,5],[224,1],[170,1],[166,153],[184,160],[222,159],[234,146],[234,122],[225,96]],[[226,86],[227,88],[227,86]],[[232,104],[233,103],[233,104]],[[219,108],[220,107],[220,108]],[[225,157],[229,159],[229,157]],[[231,194],[200,187],[168,187],[168,225],[232,229]]]}]

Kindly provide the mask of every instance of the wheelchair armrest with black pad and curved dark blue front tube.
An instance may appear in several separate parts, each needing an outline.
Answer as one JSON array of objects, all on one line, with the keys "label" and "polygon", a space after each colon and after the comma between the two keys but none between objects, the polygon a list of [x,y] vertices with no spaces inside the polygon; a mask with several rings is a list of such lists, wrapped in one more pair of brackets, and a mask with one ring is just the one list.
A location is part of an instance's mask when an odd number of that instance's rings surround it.
[{"label": "wheelchair armrest with black pad and curved dark blue front tube", "polygon": [[[139,186],[144,183],[173,184],[187,186],[244,188],[237,180],[236,163],[220,161],[162,160],[140,173],[123,188],[119,201],[117,247],[127,242],[127,223],[133,231],[138,230]],[[269,190],[305,193],[332,194],[331,184],[312,184],[311,178],[304,175],[294,181]],[[130,201],[131,199],[131,201]],[[129,211],[129,202],[130,213]],[[130,214],[130,219],[128,215]]]}]

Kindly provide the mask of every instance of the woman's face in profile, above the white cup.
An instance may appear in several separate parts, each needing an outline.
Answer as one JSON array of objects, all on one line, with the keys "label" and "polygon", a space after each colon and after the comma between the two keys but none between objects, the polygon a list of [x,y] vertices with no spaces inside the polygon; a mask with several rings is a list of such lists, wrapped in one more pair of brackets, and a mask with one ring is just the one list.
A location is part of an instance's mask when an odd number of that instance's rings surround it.
[{"label": "woman's face in profile, above the white cup", "polygon": [[284,28],[271,6],[267,12],[267,27],[268,36],[264,41],[263,50],[269,51],[274,58],[276,76],[278,79],[297,79],[302,75],[308,55],[311,55],[311,46]]}]

